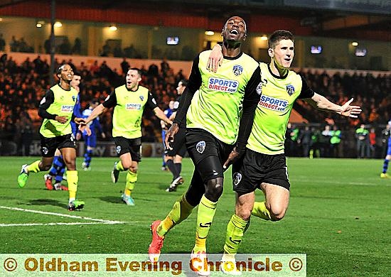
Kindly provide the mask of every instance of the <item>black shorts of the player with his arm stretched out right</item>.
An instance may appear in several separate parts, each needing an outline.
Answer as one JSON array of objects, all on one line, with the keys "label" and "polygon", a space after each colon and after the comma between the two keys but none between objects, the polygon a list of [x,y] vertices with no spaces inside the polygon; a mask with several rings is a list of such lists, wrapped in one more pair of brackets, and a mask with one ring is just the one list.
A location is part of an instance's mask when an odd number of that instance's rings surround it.
[{"label": "black shorts of the player with his arm stretched out right", "polygon": [[233,190],[242,195],[260,189],[262,183],[290,189],[285,155],[266,155],[246,149],[245,156],[232,165]]}]

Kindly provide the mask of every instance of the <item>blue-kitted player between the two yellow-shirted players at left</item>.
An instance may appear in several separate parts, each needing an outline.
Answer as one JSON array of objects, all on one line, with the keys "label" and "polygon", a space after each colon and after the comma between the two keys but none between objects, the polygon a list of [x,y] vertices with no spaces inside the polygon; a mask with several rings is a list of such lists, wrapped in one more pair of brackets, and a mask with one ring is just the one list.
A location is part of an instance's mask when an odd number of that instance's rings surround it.
[{"label": "blue-kitted player between the two yellow-shirted players at left", "polygon": [[[82,111],[81,118],[87,119],[87,117],[90,116],[90,114],[92,113],[92,110],[95,109],[95,107],[97,107],[99,104],[100,102],[97,99],[93,99],[90,102],[89,107]],[[92,152],[94,151],[95,147],[97,147],[97,134],[99,133],[103,139],[106,138],[106,135],[102,130],[102,126],[100,125],[99,117],[92,120],[89,126],[90,134],[87,132],[87,129],[84,129],[83,131],[77,133],[76,136],[76,139],[79,139],[79,136],[81,135],[83,141],[85,141],[85,146],[87,146],[87,151],[84,154],[84,161],[82,162],[82,168],[84,170],[91,170],[90,163],[92,158]]]}]

